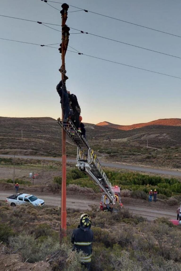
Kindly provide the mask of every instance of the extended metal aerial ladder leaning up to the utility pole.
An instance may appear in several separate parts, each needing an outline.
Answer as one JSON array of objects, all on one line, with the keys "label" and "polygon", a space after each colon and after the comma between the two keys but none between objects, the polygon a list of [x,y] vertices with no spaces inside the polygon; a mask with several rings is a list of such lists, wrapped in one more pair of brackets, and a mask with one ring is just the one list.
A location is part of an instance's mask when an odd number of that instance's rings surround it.
[{"label": "extended metal aerial ladder leaning up to the utility pole", "polygon": [[117,202],[123,206],[120,198],[120,187],[112,186],[108,180],[106,173],[101,168],[100,162],[93,149],[90,147],[86,138],[82,137],[80,132],[70,119],[61,120],[58,118],[58,124],[64,129],[69,138],[77,146],[77,164],[76,167],[84,171],[86,175],[93,180],[96,185],[99,185],[103,191],[103,196],[100,202],[100,208],[113,210],[113,205]]}]

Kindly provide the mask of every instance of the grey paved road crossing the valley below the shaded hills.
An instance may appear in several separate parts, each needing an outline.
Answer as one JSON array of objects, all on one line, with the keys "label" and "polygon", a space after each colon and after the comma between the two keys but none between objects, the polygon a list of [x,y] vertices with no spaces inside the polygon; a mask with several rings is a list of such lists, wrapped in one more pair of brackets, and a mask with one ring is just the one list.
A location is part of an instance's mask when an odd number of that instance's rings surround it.
[{"label": "grey paved road crossing the valley below the shaded hills", "polygon": [[[14,155],[1,154],[0,157],[14,157]],[[15,157],[25,158],[25,159],[29,158],[29,159],[36,159],[36,160],[61,161],[61,158],[42,157],[42,156],[16,155]],[[67,162],[76,163],[76,160],[75,159],[67,159]],[[150,173],[157,173],[157,174],[181,177],[181,171],[179,171],[179,170],[167,170],[167,169],[159,169],[159,168],[153,168],[153,167],[133,166],[130,164],[111,163],[111,162],[102,162],[102,161],[100,161],[100,162],[101,162],[101,165],[105,166],[105,167],[116,167],[119,169],[128,169],[128,170],[135,170],[135,171],[141,171],[141,172],[147,172],[147,173],[150,172]]]}]

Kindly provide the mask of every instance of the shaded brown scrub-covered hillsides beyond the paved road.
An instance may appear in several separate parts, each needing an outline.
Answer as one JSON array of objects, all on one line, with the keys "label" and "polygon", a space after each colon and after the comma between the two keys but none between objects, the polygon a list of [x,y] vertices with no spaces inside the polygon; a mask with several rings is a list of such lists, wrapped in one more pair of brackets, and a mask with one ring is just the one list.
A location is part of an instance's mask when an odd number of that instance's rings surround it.
[{"label": "shaded brown scrub-covered hillsides beyond the paved road", "polygon": [[[179,121],[181,120],[161,120],[159,124],[154,121],[149,122],[150,125],[130,130],[117,129],[119,125],[112,127],[111,124],[101,126],[85,123],[86,137],[90,146],[102,160],[180,168],[181,126]],[[165,122],[169,125],[164,124]],[[175,125],[171,126],[171,123]],[[48,117],[0,117],[0,154],[60,157],[61,127],[56,120]],[[77,149],[67,137],[67,156],[75,158],[76,155]]]}]

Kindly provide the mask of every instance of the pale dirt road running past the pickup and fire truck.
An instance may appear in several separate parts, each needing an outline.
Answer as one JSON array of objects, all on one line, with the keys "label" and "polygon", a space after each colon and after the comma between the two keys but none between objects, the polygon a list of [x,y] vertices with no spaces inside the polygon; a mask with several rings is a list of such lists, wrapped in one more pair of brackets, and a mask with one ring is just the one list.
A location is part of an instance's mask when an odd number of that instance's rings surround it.
[{"label": "pale dirt road running past the pickup and fire truck", "polygon": [[[28,191],[27,191],[28,192]],[[0,200],[5,200],[7,196],[11,195],[11,191],[0,191]],[[38,198],[45,201],[48,206],[61,206],[61,195],[50,194],[50,193],[35,193]],[[81,195],[83,195],[81,193]],[[78,194],[67,194],[67,208],[80,210],[80,211],[90,211],[92,205],[96,205],[99,209],[101,194],[95,194],[92,198],[89,196],[81,196]],[[166,217],[168,219],[176,219],[176,209],[177,206],[169,206],[164,202],[148,202],[146,200],[126,198],[122,197],[122,203],[124,208],[129,209],[133,214],[139,214],[148,220],[154,220],[158,217]]]}]

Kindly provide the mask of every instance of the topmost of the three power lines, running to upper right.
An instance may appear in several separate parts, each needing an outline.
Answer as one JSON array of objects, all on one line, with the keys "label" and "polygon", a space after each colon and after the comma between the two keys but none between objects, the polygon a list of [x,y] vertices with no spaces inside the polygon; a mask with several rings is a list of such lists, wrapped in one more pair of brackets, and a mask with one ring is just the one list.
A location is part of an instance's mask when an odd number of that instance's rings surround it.
[{"label": "topmost of the three power lines, running to upper right", "polygon": [[[41,1],[44,1],[44,0],[41,0]],[[57,4],[63,4],[61,2],[48,1],[48,0],[47,0],[47,2],[53,2],[53,3],[57,3]],[[72,5],[69,5],[69,6],[73,7],[73,8],[78,8],[78,7],[75,7],[75,6],[72,6]],[[113,20],[125,22],[127,24],[136,25],[136,26],[143,27],[143,28],[146,28],[146,29],[149,29],[149,30],[153,30],[153,31],[157,31],[157,32],[160,32],[160,33],[164,33],[164,34],[167,34],[167,35],[171,35],[171,36],[175,36],[175,37],[181,38],[181,36],[179,36],[179,35],[175,35],[175,34],[172,34],[172,33],[169,33],[169,32],[165,32],[165,31],[161,31],[161,30],[158,30],[158,29],[155,29],[155,28],[147,27],[147,26],[140,25],[140,24],[135,24],[133,22],[124,21],[124,20],[121,20],[121,19],[118,19],[118,18],[114,18],[114,17],[108,16],[108,15],[105,15],[105,14],[97,13],[97,12],[90,11],[90,10],[83,9],[83,8],[78,8],[78,9],[81,9],[81,10],[83,10],[85,12],[90,12],[90,13],[93,13],[93,14],[97,14],[97,15],[100,15],[100,16],[103,16],[103,17],[107,17],[107,18],[110,18],[110,19],[113,19]]]}]

